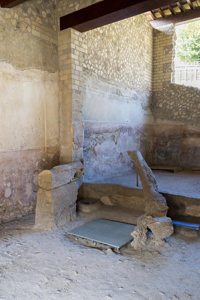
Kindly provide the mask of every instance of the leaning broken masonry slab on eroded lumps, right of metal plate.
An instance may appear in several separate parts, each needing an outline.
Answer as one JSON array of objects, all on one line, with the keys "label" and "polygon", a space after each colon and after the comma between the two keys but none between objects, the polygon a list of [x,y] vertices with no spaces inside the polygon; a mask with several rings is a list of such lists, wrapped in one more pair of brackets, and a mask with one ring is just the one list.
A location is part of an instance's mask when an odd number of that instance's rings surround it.
[{"label": "leaning broken masonry slab on eroded lumps, right of metal plate", "polygon": [[174,232],[172,220],[166,217],[168,206],[165,197],[158,192],[156,179],[148,167],[140,151],[127,151],[133,160],[140,176],[144,197],[146,201],[145,214],[139,217],[137,226],[131,233],[133,241],[131,245],[135,249],[141,249],[150,242],[148,230],[153,233],[151,241],[154,246],[161,246],[165,238]]}]

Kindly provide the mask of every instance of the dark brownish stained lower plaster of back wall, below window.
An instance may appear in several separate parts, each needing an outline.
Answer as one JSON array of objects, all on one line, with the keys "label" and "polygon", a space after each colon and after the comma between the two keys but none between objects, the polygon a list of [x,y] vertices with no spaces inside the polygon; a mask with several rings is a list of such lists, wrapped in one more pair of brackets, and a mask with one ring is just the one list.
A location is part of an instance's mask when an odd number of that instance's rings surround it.
[{"label": "dark brownish stained lower plaster of back wall, below window", "polygon": [[190,169],[200,167],[199,157],[199,128],[185,124],[154,124],[154,164]]}]

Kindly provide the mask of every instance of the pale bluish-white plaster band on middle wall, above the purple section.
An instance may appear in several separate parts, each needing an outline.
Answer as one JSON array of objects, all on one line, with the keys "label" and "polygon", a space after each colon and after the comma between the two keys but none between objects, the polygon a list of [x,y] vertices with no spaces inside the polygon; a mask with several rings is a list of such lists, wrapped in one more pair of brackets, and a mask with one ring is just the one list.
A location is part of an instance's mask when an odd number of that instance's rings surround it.
[{"label": "pale bluish-white plaster band on middle wall, above the purple section", "polygon": [[[145,110],[144,107],[146,106]],[[85,121],[128,125],[152,124],[145,92],[100,81],[94,73],[84,77],[83,117]]]}]

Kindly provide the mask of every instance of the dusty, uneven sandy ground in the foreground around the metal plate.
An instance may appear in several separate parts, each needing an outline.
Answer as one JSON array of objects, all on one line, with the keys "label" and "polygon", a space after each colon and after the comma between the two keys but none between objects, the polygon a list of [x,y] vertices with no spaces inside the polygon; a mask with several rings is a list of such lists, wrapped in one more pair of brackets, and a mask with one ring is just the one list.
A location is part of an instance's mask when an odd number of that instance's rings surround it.
[{"label": "dusty, uneven sandy ground in the foreground around the metal plate", "polygon": [[[116,211],[108,214],[112,219]],[[34,215],[2,224],[0,300],[200,299],[199,238],[172,235],[162,249],[146,252],[68,237],[69,229],[98,217],[81,213],[47,232],[34,228]]]}]

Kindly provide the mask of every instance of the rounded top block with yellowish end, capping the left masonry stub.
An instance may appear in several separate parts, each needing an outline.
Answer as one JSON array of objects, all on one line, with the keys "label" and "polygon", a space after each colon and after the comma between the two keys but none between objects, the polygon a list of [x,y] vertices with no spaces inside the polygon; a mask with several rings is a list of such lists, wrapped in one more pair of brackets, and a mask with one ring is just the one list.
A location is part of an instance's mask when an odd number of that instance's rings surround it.
[{"label": "rounded top block with yellowish end, capping the left masonry stub", "polygon": [[45,170],[39,174],[39,187],[51,190],[72,182],[84,173],[85,167],[81,162],[56,166],[51,170]]}]

